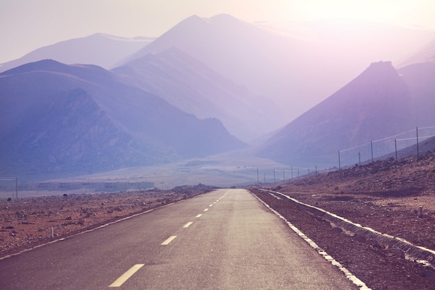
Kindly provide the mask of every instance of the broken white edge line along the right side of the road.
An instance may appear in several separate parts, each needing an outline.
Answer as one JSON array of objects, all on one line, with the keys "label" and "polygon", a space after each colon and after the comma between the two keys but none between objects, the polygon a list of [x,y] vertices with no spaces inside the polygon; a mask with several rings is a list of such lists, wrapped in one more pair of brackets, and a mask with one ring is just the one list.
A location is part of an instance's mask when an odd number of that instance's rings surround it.
[{"label": "broken white edge line along the right side of the road", "polygon": [[[250,191],[249,191],[250,192]],[[252,195],[254,195],[253,193],[251,193]],[[341,265],[338,261],[336,261],[333,257],[329,256],[327,254],[327,252],[325,252],[324,250],[322,250],[316,243],[314,243],[313,240],[311,240],[308,236],[306,236],[303,232],[301,232],[297,227],[295,227],[292,223],[290,223],[286,218],[284,218],[284,216],[281,216],[281,214],[279,214],[278,211],[275,211],[274,209],[272,209],[272,207],[269,206],[269,204],[263,202],[263,200],[261,200],[260,198],[258,198],[256,195],[254,195],[256,197],[257,200],[259,200],[262,204],[265,205],[265,207],[267,207],[268,209],[270,209],[270,211],[272,211],[274,214],[276,214],[277,216],[279,216],[279,218],[281,218],[281,220],[284,220],[284,222],[288,225],[288,227],[290,227],[290,229],[293,229],[293,231],[298,234],[302,239],[304,239],[304,241],[306,241],[306,243],[308,243],[309,245],[311,245],[312,248],[314,248],[315,250],[317,250],[317,252],[327,261],[329,261],[331,264],[333,264],[334,266],[336,266],[338,269],[340,269],[340,271],[342,271],[345,276],[347,277],[347,279],[349,279],[351,282],[353,282],[356,286],[359,287],[360,290],[371,290],[369,287],[367,287],[367,285],[362,282],[361,280],[358,279],[358,277],[356,277],[355,275],[353,275],[352,273],[350,273],[349,270],[347,270],[347,268],[345,268],[345,266]]]}]

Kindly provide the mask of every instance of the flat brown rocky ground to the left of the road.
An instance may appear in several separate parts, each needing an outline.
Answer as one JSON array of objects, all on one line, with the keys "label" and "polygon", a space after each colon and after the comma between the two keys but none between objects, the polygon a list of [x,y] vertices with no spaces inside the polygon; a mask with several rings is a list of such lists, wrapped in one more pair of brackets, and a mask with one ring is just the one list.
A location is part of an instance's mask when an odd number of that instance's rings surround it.
[{"label": "flat brown rocky ground to the left of the road", "polygon": [[0,200],[0,258],[121,218],[192,198],[213,186],[168,191],[52,195]]}]

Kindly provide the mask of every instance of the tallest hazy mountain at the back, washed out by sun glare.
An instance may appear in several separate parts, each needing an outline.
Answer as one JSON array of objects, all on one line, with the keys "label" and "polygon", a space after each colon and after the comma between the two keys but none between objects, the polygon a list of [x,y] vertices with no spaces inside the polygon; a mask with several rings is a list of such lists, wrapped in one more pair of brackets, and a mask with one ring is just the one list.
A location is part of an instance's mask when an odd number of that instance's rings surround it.
[{"label": "tallest hazy mountain at the back, washed out by sun glare", "polygon": [[290,24],[285,33],[230,15],[194,15],[120,65],[176,47],[254,94],[270,97],[286,108],[290,122],[345,86],[367,63],[400,58],[435,36],[434,31],[336,19]]}]

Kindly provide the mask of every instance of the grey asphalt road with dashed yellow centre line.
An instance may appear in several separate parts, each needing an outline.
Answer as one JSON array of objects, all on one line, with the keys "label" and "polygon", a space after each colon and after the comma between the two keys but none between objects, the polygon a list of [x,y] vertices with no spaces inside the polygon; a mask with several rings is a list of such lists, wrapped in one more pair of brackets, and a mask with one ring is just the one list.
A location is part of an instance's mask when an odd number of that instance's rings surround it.
[{"label": "grey asphalt road with dashed yellow centre line", "polygon": [[357,289],[254,195],[222,189],[0,260],[0,289]]}]

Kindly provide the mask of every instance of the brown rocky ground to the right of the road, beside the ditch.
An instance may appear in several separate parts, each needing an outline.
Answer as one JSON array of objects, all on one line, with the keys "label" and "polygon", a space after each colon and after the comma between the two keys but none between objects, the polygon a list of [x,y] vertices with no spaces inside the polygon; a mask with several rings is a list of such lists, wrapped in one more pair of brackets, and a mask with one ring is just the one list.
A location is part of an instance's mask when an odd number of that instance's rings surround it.
[{"label": "brown rocky ground to the right of the road, beside the ditch", "polygon": [[[435,289],[431,266],[337,230],[290,200],[250,189],[371,289]],[[435,250],[435,154],[378,161],[268,189]]]}]

